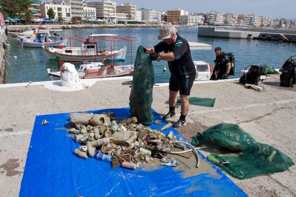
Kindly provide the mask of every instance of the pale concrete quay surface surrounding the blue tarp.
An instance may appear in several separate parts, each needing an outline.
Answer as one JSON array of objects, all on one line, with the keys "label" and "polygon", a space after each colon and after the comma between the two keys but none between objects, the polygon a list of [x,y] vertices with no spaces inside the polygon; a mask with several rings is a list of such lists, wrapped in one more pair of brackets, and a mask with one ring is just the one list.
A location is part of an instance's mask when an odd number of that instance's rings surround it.
[{"label": "pale concrete quay surface surrounding the blue tarp", "polygon": [[[212,108],[190,105],[187,125],[177,129],[186,139],[218,123],[239,124],[258,142],[269,144],[296,160],[296,88],[279,87],[279,75],[259,84],[263,91],[246,89],[238,80],[196,82],[192,97],[216,98]],[[71,91],[55,82],[0,85],[0,196],[18,196],[36,115],[129,107],[129,77],[84,79]],[[153,88],[152,108],[168,112],[167,84]],[[176,121],[180,108],[176,109]],[[232,153],[208,143],[208,154]],[[50,147],[48,147],[50,150]],[[61,158],[62,159],[62,158]],[[296,196],[296,167],[285,172],[238,180],[227,175],[249,196]],[[33,183],[32,183],[33,184]]]}]

